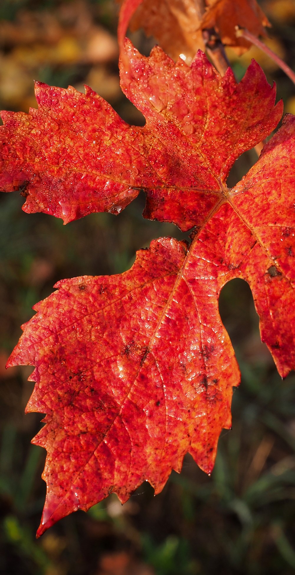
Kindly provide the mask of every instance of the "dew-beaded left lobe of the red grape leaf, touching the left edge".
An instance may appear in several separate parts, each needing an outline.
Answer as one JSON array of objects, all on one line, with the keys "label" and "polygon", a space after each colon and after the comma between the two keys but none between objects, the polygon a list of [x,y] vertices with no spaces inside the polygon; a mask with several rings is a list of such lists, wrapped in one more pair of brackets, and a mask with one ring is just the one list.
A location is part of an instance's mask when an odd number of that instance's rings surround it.
[{"label": "dew-beaded left lobe of the red grape leaf, touching the left edge", "polygon": [[0,186],[21,187],[25,212],[52,214],[66,224],[92,212],[118,213],[139,193],[128,184],[137,173],[136,150],[128,153],[137,128],[89,87],[85,91],[36,82],[38,110],[2,112]]}]

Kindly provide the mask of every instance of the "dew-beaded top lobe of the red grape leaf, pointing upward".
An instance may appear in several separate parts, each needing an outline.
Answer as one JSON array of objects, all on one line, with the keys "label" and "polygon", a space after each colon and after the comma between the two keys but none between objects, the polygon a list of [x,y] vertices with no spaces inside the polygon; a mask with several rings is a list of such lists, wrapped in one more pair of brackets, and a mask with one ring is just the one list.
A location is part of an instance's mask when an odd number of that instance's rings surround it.
[{"label": "dew-beaded top lobe of the red grape leaf, pointing upward", "polygon": [[146,157],[162,180],[153,188],[141,176],[143,215],[183,231],[200,226],[227,196],[235,160],[277,125],[282,102],[274,106],[275,87],[254,60],[239,84],[230,68],[221,78],[202,52],[187,67],[160,48],[145,58],[127,41],[122,62],[122,90],[146,118]]}]

